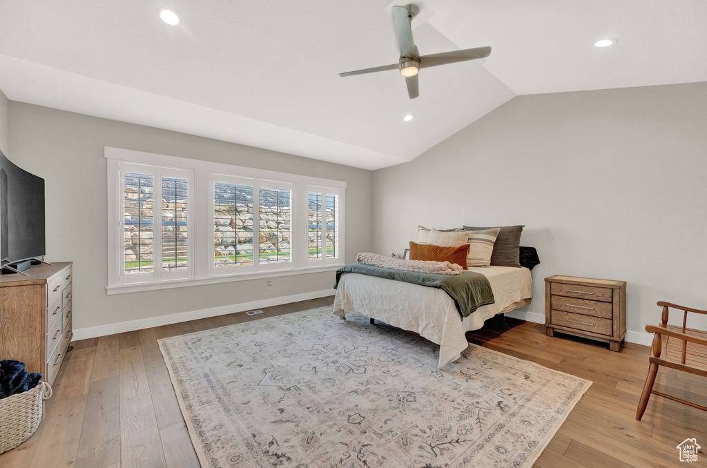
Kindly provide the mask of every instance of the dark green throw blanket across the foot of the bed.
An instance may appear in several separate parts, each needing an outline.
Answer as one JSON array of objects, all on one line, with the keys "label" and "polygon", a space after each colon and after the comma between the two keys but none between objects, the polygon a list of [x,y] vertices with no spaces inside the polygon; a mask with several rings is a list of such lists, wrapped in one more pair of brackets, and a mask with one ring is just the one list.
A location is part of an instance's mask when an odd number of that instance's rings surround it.
[{"label": "dark green throw blanket across the foot of the bed", "polygon": [[462,274],[431,274],[375,267],[365,263],[352,263],[337,270],[337,282],[334,284],[334,289],[339,286],[339,278],[342,273],[367,274],[368,276],[395,279],[395,281],[405,281],[430,288],[440,288],[454,300],[462,318],[468,317],[482,305],[494,302],[489,280],[486,279],[486,276],[472,271],[464,271]]}]

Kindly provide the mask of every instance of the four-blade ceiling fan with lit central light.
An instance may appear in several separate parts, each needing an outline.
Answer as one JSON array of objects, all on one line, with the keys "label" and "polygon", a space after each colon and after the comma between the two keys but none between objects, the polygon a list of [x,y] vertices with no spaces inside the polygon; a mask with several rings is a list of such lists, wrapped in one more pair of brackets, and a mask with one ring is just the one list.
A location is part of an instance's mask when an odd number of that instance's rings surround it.
[{"label": "four-blade ceiling fan with lit central light", "polygon": [[395,25],[395,35],[400,47],[400,59],[397,64],[376,66],[372,69],[346,71],[346,73],[341,73],[339,76],[361,75],[375,73],[376,71],[399,69],[400,74],[405,77],[407,94],[410,99],[414,99],[420,95],[417,78],[420,69],[465,62],[467,60],[484,59],[491,55],[491,47],[476,47],[475,49],[452,50],[451,52],[420,56],[419,52],[417,52],[417,46],[412,42],[412,28],[410,25],[410,21],[419,11],[418,6],[414,4],[393,7],[393,24]]}]

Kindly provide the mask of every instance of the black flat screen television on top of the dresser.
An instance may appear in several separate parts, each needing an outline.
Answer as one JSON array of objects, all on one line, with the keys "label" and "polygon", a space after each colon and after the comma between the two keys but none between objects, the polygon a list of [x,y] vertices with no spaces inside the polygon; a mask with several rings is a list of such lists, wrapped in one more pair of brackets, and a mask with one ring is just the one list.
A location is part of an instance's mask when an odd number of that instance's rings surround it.
[{"label": "black flat screen television on top of the dresser", "polygon": [[2,266],[44,257],[45,185],[0,151],[0,259]]}]

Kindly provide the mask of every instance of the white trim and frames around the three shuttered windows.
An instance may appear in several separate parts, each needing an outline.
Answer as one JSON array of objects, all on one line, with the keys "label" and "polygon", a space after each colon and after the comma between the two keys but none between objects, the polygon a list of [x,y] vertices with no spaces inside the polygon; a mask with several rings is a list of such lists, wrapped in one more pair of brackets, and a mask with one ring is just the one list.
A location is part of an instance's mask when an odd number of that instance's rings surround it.
[{"label": "white trim and frames around the three shuttered windows", "polygon": [[[272,170],[244,168],[230,164],[178,158],[176,156],[145,153],[143,151],[112,148],[110,146],[105,147],[105,158],[107,158],[108,167],[108,285],[106,288],[108,294],[151,291],[181,286],[196,286],[228,281],[289,276],[293,274],[310,274],[319,271],[334,271],[344,264],[344,193],[346,189],[346,182],[344,181],[289,174]],[[123,273],[124,234],[122,224],[124,212],[121,210],[122,197],[119,197],[118,193],[122,189],[119,175],[122,174],[122,164],[126,163],[131,165],[158,166],[156,168],[158,169],[156,180],[159,180],[159,184],[156,185],[159,185],[160,191],[162,187],[162,173],[159,170],[160,168],[174,168],[180,171],[190,171],[189,197],[187,199],[187,219],[189,223],[189,243],[187,247],[189,250],[189,268],[187,271],[189,273],[187,277],[178,279],[164,278],[161,274],[161,268],[159,272],[157,272],[158,269],[155,268],[156,281],[127,283],[122,279],[122,276],[125,276]],[[214,175],[226,175],[242,180],[253,180],[257,182],[257,187],[262,184],[262,187],[267,188],[290,188],[293,190],[291,200],[291,246],[293,246],[291,253],[293,262],[260,264],[259,267],[254,267],[250,271],[240,269],[238,271],[231,270],[222,273],[220,271],[221,269],[214,269]],[[318,261],[314,264],[308,261],[308,223],[306,219],[299,218],[306,216],[307,213],[307,211],[301,211],[301,207],[307,206],[309,186],[320,188],[327,187],[331,192],[326,193],[339,195],[339,245],[341,245],[341,248],[339,250],[338,259],[326,259],[328,262]],[[157,199],[157,196],[155,195],[153,199]],[[159,213],[154,211],[155,206],[156,204],[153,201],[153,219],[161,220],[161,203],[158,204]],[[257,221],[257,217],[255,216],[255,211],[257,211],[255,200],[253,208],[255,223]],[[158,215],[160,216],[159,218],[157,218]],[[161,240],[161,223],[158,224]],[[153,226],[155,225],[153,224]],[[255,225],[255,228],[259,228],[259,226]],[[257,252],[257,242],[255,242],[255,236],[257,234],[255,228],[253,245],[255,252]],[[155,229],[156,228],[153,228],[153,233],[156,232]],[[153,235],[153,238],[154,237]]]}]

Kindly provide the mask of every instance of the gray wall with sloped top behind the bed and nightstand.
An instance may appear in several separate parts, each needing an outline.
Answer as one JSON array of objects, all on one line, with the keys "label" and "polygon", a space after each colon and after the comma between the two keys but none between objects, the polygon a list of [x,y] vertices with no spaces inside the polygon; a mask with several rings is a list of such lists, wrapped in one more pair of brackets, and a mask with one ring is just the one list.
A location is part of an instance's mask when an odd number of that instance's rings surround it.
[{"label": "gray wall with sloped top behind the bed and nightstand", "polygon": [[530,312],[552,274],[628,281],[633,332],[658,300],[707,309],[707,83],[518,96],[375,171],[373,191],[380,253],[418,224],[525,224],[542,260]]}]

